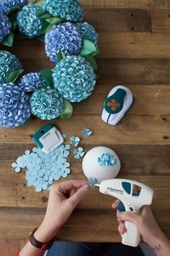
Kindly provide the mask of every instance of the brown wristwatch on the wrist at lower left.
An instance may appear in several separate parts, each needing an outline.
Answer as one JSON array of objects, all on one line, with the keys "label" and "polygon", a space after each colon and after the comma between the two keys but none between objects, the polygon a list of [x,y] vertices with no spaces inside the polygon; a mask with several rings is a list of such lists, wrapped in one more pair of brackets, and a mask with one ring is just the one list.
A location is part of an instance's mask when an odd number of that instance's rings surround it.
[{"label": "brown wristwatch on the wrist at lower left", "polygon": [[30,243],[33,245],[33,247],[36,247],[37,249],[41,249],[42,251],[45,251],[46,249],[50,249],[50,247],[52,247],[53,245],[54,240],[52,239],[51,241],[45,242],[45,243],[37,241],[37,239],[35,239],[35,236],[34,236],[35,231],[37,231],[37,229],[38,227],[36,227],[30,232],[30,235],[29,235]]}]

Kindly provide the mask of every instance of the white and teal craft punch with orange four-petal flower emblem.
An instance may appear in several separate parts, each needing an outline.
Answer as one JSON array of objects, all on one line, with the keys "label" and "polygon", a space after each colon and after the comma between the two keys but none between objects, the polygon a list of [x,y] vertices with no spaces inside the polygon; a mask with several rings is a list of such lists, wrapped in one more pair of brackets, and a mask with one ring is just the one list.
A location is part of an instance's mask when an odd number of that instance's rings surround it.
[{"label": "white and teal craft punch with orange four-petal flower emblem", "polygon": [[107,124],[116,125],[133,106],[135,98],[133,93],[122,85],[117,85],[109,92],[104,101],[102,120]]}]

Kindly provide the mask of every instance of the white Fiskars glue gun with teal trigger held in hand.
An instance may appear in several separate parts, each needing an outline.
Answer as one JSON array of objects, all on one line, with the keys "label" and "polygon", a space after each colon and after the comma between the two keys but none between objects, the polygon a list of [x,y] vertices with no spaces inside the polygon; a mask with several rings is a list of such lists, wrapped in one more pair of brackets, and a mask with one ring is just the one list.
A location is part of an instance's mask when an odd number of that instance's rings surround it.
[{"label": "white Fiskars glue gun with teal trigger held in hand", "polygon": [[[106,179],[100,184],[99,192],[118,198],[121,203],[117,206],[120,211],[140,213],[143,205],[151,205],[153,189],[130,179]],[[135,224],[125,221],[126,232],[122,235],[122,244],[137,247],[140,242],[140,234]]]}]

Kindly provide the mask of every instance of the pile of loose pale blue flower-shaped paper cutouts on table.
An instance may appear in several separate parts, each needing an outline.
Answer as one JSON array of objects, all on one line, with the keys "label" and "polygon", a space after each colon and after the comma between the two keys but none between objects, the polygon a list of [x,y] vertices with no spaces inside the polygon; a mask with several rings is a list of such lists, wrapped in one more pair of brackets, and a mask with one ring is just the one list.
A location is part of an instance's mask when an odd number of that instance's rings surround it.
[{"label": "pile of loose pale blue flower-shaped paper cutouts on table", "polygon": [[19,156],[16,163],[12,163],[12,167],[16,172],[27,168],[27,186],[34,186],[36,192],[49,190],[53,180],[66,178],[70,174],[70,163],[67,161],[70,148],[68,144],[61,145],[49,154],[40,148],[32,148],[32,152],[26,150],[25,155]]}]

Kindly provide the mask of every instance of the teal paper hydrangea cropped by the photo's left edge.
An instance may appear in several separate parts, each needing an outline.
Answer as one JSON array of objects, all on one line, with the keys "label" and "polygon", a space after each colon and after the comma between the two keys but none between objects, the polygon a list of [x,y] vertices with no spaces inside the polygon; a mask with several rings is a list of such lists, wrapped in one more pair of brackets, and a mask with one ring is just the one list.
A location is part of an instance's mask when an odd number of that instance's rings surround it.
[{"label": "teal paper hydrangea cropped by the photo's left edge", "polygon": [[0,84],[5,83],[11,72],[22,69],[19,59],[9,51],[0,51]]}]

